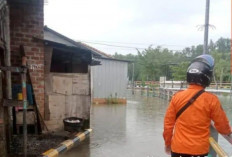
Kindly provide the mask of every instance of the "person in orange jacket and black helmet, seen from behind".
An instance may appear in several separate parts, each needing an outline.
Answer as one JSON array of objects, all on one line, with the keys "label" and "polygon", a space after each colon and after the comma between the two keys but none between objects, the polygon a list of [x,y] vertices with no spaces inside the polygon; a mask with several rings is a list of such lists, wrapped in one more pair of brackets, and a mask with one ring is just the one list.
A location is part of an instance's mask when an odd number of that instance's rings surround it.
[{"label": "person in orange jacket and black helmet, seen from behind", "polygon": [[172,157],[205,157],[209,152],[211,120],[217,131],[231,134],[228,118],[216,95],[205,92],[177,117],[180,109],[200,90],[209,86],[214,68],[210,55],[196,57],[187,70],[189,87],[171,99],[164,118],[165,151]]}]

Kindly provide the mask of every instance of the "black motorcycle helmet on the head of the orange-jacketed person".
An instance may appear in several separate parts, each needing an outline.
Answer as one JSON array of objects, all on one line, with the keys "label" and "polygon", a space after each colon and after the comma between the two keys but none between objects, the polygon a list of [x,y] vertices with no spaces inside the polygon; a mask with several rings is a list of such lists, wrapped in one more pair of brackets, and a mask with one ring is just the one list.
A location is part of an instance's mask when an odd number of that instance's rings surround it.
[{"label": "black motorcycle helmet on the head of the orange-jacketed person", "polygon": [[214,59],[211,55],[200,55],[196,57],[187,70],[187,82],[209,86],[214,68]]}]

